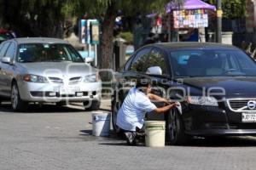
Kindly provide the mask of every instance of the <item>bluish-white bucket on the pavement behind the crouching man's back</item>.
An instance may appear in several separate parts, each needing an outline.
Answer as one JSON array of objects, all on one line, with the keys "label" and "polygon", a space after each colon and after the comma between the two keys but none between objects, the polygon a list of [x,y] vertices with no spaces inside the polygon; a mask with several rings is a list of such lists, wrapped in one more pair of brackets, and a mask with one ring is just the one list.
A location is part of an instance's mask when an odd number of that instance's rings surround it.
[{"label": "bluish-white bucket on the pavement behind the crouching man's back", "polygon": [[110,113],[97,112],[92,114],[92,135],[109,136]]}]

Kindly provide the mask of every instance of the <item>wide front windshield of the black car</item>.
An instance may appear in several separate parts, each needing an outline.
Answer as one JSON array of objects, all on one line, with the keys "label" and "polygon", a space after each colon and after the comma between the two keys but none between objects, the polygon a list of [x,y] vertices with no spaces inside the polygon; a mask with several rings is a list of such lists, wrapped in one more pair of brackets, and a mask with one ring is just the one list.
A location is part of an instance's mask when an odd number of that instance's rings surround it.
[{"label": "wide front windshield of the black car", "polygon": [[236,49],[172,51],[170,61],[174,77],[256,77],[253,59]]}]

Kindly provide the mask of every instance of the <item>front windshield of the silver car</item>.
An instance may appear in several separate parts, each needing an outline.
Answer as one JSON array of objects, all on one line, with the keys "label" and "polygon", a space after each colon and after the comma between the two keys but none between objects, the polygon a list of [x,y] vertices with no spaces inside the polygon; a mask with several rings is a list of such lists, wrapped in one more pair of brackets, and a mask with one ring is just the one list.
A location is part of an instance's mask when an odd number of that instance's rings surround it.
[{"label": "front windshield of the silver car", "polygon": [[69,44],[26,43],[20,44],[18,62],[84,62],[79,53]]}]

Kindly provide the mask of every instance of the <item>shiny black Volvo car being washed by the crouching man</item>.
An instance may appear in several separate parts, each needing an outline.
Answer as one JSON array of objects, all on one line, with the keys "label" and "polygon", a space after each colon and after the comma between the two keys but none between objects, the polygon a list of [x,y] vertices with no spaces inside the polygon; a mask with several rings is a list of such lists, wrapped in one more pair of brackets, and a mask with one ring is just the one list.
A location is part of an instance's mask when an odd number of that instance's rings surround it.
[{"label": "shiny black Volvo car being washed by the crouching man", "polygon": [[239,48],[201,42],[139,48],[113,86],[112,117],[117,133],[117,111],[140,77],[152,80],[154,94],[181,103],[181,109],[147,117],[166,120],[166,139],[171,144],[181,144],[190,136],[256,134],[256,65]]}]

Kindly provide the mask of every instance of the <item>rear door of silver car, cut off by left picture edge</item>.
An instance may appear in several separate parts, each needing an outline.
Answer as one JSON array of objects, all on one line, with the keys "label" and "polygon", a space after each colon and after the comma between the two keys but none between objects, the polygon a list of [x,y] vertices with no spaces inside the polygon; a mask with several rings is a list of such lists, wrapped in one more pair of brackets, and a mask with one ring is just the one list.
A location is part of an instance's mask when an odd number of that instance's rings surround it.
[{"label": "rear door of silver car, cut off by left picture edge", "polygon": [[0,95],[4,95],[4,64],[2,62],[3,57],[5,56],[7,49],[9,48],[10,42],[3,42],[0,47]]}]

